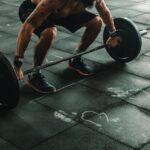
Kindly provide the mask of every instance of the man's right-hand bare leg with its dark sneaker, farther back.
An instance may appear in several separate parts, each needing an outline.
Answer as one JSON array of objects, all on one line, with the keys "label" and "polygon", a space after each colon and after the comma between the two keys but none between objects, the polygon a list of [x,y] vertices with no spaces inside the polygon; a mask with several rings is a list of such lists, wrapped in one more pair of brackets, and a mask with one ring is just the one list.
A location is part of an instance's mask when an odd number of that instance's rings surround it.
[{"label": "man's right-hand bare leg with its dark sneaker, farther back", "polygon": [[[85,51],[93,43],[93,41],[101,31],[102,20],[99,16],[95,16],[93,19],[91,19],[87,23],[84,23],[82,26],[86,27],[86,29],[81,37],[81,41],[75,53]],[[77,71],[79,74],[84,76],[93,74],[92,68],[86,65],[81,57],[70,60],[69,68]]]}]

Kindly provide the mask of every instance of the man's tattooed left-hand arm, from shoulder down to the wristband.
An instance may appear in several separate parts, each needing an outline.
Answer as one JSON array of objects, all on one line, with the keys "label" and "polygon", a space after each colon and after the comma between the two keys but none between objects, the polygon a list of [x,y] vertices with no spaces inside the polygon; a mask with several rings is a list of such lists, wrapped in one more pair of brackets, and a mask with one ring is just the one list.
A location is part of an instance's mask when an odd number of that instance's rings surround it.
[{"label": "man's tattooed left-hand arm, from shoulder down to the wristband", "polygon": [[41,0],[20,28],[17,38],[16,56],[24,56],[34,29],[43,23],[48,15],[56,8],[56,5],[57,0]]}]

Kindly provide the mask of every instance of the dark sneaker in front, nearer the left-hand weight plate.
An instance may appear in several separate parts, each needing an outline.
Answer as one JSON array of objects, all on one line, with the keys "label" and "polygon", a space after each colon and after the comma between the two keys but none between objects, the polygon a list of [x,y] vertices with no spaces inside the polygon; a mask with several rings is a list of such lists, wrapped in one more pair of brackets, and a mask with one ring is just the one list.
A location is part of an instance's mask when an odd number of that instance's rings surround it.
[{"label": "dark sneaker in front, nearer the left-hand weight plate", "polygon": [[56,88],[45,80],[41,73],[30,74],[26,84],[39,93],[53,93]]}]

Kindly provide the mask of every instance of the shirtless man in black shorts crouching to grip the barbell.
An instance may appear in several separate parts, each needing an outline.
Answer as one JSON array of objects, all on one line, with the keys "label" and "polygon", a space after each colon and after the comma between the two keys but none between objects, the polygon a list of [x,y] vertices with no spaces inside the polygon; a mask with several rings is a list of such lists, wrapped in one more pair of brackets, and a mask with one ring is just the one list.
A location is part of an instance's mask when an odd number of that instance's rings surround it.
[{"label": "shirtless man in black shorts crouching to grip the barbell", "polygon": [[[100,15],[85,10],[93,6],[96,7]],[[104,0],[25,0],[19,8],[19,16],[23,24],[18,33],[14,58],[14,68],[18,79],[23,78],[21,65],[32,33],[39,37],[34,47],[34,67],[42,64],[51,47],[57,33],[56,25],[63,26],[71,32],[85,27],[75,53],[85,51],[95,40],[101,30],[102,21],[110,32],[106,44],[110,47],[115,47],[118,44],[113,18]],[[81,57],[70,60],[68,67],[81,75],[92,74],[91,68],[84,63]],[[53,85],[46,82],[40,70],[35,70],[28,75],[26,83],[40,93],[56,91]]]}]

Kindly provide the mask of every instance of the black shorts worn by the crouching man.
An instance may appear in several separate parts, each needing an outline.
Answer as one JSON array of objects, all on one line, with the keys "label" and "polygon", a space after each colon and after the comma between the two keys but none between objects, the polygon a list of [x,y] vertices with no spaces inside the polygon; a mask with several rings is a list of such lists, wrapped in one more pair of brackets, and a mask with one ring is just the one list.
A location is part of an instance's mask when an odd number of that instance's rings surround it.
[{"label": "black shorts worn by the crouching man", "polygon": [[[35,9],[35,5],[31,3],[31,0],[25,0],[19,7],[19,17],[22,22],[24,22],[31,12]],[[72,33],[77,31],[82,24],[95,18],[96,15],[88,11],[83,11],[77,14],[69,15],[59,19],[52,19],[51,16],[44,21],[44,23],[38,27],[34,33],[40,36],[41,32],[48,27],[55,27],[55,25],[63,26]]]}]

